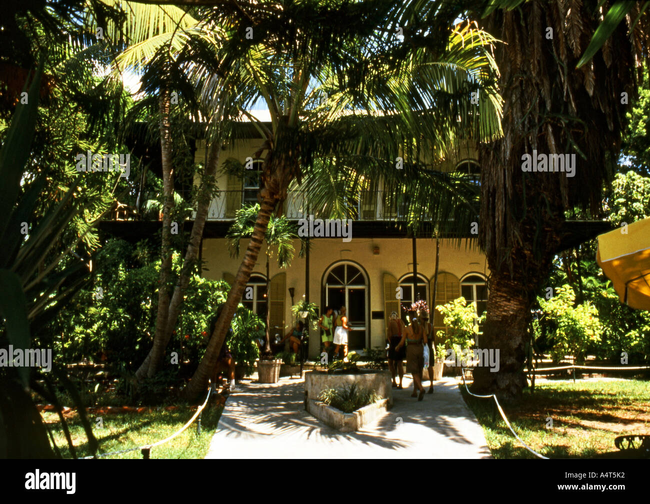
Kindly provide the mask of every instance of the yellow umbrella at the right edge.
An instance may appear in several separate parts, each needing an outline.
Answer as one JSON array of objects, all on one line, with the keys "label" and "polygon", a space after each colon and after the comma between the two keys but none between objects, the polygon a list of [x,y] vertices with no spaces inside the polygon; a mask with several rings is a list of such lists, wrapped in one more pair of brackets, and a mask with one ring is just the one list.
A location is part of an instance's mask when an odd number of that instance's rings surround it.
[{"label": "yellow umbrella at the right edge", "polygon": [[621,302],[650,310],[650,218],[600,235],[596,261]]}]

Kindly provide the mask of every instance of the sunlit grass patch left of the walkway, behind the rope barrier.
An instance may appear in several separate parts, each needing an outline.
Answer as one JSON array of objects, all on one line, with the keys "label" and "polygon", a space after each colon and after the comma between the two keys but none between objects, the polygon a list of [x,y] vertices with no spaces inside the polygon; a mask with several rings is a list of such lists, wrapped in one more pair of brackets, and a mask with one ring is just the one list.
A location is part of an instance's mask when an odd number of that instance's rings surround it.
[{"label": "sunlit grass patch left of the walkway, behind the rope barrier", "polygon": [[[99,442],[99,453],[135,448],[140,445],[153,444],[174,434],[192,418],[196,412],[190,406],[179,406],[175,410],[152,410],[142,413],[105,414],[101,424],[97,416],[89,414],[93,433]],[[221,416],[222,407],[211,401],[203,410],[201,434],[196,433],[196,420],[182,434],[160,446],[151,449],[151,458],[203,458],[207,453],[216,424]],[[55,442],[64,458],[72,454],[61,428],[59,415],[55,412],[42,412],[44,422],[51,429]],[[66,414],[68,428],[77,457],[92,455],[88,450],[88,439],[76,412]],[[103,458],[142,458],[140,450],[110,455]]]}]

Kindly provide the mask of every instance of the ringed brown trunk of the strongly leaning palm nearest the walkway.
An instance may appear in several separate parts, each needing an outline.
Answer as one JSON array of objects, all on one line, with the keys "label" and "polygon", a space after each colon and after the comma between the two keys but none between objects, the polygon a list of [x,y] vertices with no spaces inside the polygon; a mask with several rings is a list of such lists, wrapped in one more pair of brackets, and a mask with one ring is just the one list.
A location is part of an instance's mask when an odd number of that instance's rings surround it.
[{"label": "ringed brown trunk of the strongly leaning palm nearest the walkway", "polygon": [[259,251],[264,243],[266,228],[268,228],[268,221],[278,204],[279,198],[275,195],[269,195],[269,191],[263,190],[261,194],[262,202],[259,207],[259,213],[257,213],[257,219],[255,220],[253,234],[248,242],[248,247],[246,247],[246,254],[244,254],[244,259],[242,259],[239,265],[235,282],[233,282],[233,286],[228,293],[226,303],[216,322],[214,332],[210,336],[210,342],[208,343],[205,354],[185,389],[185,395],[190,401],[196,400],[207,387],[208,380],[216,365],[216,357],[219,349],[226,338],[227,328],[233,319],[233,315],[235,315],[237,305],[244,293],[244,289],[246,289],[246,283],[257,263]]}]

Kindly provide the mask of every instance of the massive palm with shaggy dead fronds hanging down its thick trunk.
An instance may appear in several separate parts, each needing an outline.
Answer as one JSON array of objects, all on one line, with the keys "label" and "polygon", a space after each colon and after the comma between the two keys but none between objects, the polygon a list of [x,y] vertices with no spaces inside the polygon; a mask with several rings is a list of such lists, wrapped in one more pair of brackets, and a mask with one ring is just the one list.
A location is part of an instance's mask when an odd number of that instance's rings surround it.
[{"label": "massive palm with shaggy dead fronds hanging down its thick trunk", "polygon": [[[628,29],[619,25],[621,18],[613,25],[607,18],[611,36],[600,38],[601,49],[577,68],[603,15],[623,4]],[[495,53],[505,102],[503,138],[480,150],[480,244],[491,271],[482,342],[500,349],[500,369],[476,368],[476,392],[504,399],[521,395],[530,310],[547,286],[565,211],[601,211],[603,181],[616,163],[626,122],[627,101],[621,97],[634,96],[639,64],[648,54],[648,15],[640,7],[501,1],[481,21],[505,42]],[[522,156],[533,150],[577,153],[575,176],[524,172]]]}]

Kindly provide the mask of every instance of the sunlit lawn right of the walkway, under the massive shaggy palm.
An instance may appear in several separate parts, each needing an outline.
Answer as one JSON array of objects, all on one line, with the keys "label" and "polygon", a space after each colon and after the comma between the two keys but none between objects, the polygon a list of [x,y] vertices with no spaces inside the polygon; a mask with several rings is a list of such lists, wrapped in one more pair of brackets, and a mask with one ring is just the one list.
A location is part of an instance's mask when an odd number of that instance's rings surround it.
[{"label": "sunlit lawn right of the walkway, under the massive shaggy palm", "polygon": [[[495,458],[536,458],[514,438],[493,399],[461,393],[483,427]],[[647,380],[548,380],[528,388],[519,403],[503,406],[517,435],[550,458],[592,458],[618,451],[614,438],[650,434],[650,382]],[[552,427],[547,428],[547,418]]]}]

